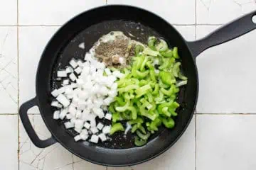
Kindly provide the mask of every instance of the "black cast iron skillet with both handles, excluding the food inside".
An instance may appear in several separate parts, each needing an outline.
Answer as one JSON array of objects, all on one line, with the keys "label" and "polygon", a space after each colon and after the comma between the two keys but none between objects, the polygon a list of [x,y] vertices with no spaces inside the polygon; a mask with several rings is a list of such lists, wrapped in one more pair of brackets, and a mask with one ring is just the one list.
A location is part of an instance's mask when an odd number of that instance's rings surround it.
[{"label": "black cast iron skillet with both handles, excluding the food inside", "polygon": [[[146,162],[169,149],[186,130],[193,116],[198,98],[198,72],[196,57],[208,47],[233,40],[256,28],[252,16],[256,11],[239,18],[226,26],[215,30],[206,38],[195,42],[187,42],[163,18],[156,14],[133,6],[102,6],[93,8],[76,16],[61,27],[43,51],[36,74],[36,97],[23,103],[19,114],[31,141],[37,147],[48,147],[59,142],[73,154],[95,164],[107,166],[129,166]],[[181,109],[178,111],[176,126],[173,130],[161,129],[161,132],[151,137],[144,147],[132,145],[132,135],[127,140],[122,135],[115,135],[112,142],[93,145],[89,142],[75,142],[73,132],[66,131],[62,123],[53,120],[53,108],[50,106],[50,91],[59,86],[55,80],[55,71],[63,68],[72,57],[83,58],[85,51],[105,33],[111,30],[122,30],[125,34],[132,33],[140,41],[145,42],[149,35],[164,38],[169,45],[179,48],[183,73],[188,77],[188,84],[181,90],[178,101]],[[85,42],[87,49],[80,50],[78,44]],[[41,116],[50,130],[52,137],[40,140],[28,120],[27,111],[38,106]]]}]

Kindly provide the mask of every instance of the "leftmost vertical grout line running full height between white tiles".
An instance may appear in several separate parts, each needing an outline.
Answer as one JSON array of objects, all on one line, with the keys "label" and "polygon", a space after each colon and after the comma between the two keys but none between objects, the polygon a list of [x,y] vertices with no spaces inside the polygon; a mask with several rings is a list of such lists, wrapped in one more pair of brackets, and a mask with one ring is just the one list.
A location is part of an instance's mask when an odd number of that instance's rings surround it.
[{"label": "leftmost vertical grout line running full height between white tiles", "polygon": [[[18,56],[19,56],[19,54],[18,54],[18,0],[17,0],[17,72],[19,71],[18,69],[19,69],[19,62],[18,62]],[[18,95],[18,107],[19,107],[19,72],[18,72],[18,79],[17,79],[17,86],[18,86],[18,93],[17,93],[17,95]],[[17,113],[18,113],[18,107],[17,107]],[[18,170],[20,169],[20,137],[19,137],[19,135],[20,135],[20,132],[19,132],[19,124],[20,124],[20,122],[19,122],[19,117],[17,116],[17,118],[18,118]]]}]

